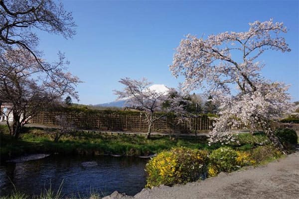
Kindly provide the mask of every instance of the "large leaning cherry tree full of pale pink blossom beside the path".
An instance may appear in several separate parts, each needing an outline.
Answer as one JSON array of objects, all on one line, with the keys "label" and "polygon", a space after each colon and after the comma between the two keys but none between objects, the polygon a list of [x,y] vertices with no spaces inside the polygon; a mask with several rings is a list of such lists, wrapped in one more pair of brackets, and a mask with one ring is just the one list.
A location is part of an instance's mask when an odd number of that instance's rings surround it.
[{"label": "large leaning cherry tree full of pale pink blossom beside the path", "polygon": [[262,127],[283,150],[269,121],[290,109],[288,86],[263,78],[260,71],[264,64],[257,59],[266,50],[291,51],[281,36],[287,28],[272,19],[249,26],[247,32],[224,32],[206,39],[187,35],[176,48],[169,67],[175,77],[185,77],[185,90],[204,88],[213,100],[221,102],[210,142],[234,141],[231,127],[250,123]]}]

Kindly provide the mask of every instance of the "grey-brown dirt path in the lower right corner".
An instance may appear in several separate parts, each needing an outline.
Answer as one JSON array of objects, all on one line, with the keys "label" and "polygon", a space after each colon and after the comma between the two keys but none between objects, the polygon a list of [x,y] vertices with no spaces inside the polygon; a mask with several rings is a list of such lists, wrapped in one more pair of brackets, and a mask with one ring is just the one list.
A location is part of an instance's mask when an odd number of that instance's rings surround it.
[{"label": "grey-brown dirt path in the lower right corner", "polygon": [[299,152],[257,168],[247,167],[183,186],[144,189],[134,197],[107,199],[297,199]]}]

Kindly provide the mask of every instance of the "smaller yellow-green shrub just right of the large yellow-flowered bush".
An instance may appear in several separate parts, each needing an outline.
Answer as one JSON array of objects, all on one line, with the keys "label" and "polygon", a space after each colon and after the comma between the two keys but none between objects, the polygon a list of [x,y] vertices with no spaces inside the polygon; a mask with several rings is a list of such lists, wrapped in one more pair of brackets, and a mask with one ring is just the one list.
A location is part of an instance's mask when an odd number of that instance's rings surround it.
[{"label": "smaller yellow-green shrub just right of the large yellow-flowered bush", "polygon": [[209,158],[210,165],[208,175],[215,176],[220,172],[232,172],[237,170],[237,152],[229,147],[220,147],[214,150]]}]

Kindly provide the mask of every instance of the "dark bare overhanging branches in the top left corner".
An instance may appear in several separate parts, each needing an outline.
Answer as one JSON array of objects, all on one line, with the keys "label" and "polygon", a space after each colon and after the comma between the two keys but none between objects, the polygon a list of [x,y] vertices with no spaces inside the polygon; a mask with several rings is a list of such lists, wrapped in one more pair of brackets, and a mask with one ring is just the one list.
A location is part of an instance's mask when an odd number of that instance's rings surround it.
[{"label": "dark bare overhanging branches in the top left corner", "polygon": [[62,1],[0,0],[0,57],[4,59],[5,52],[10,50],[23,49],[48,73],[52,68],[40,62],[43,53],[37,49],[36,32],[62,35],[67,39],[76,33],[75,27],[72,13],[65,11]]}]

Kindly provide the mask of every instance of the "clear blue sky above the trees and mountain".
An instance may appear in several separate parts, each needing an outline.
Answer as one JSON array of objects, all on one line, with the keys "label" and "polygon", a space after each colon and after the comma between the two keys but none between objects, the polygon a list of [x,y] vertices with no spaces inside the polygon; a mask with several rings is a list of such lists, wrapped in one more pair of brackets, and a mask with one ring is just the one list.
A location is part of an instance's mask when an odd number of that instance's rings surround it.
[{"label": "clear blue sky above the trees and mountain", "polygon": [[[110,102],[122,89],[120,78],[146,77],[154,84],[177,87],[171,76],[174,48],[184,35],[202,36],[224,31],[247,31],[249,22],[283,21],[292,49],[268,51],[259,60],[262,74],[291,84],[292,100],[299,100],[299,1],[100,1],[63,0],[73,13],[77,34],[72,39],[39,33],[39,49],[55,61],[60,50],[71,62],[70,72],[84,83],[77,87],[80,103]],[[201,91],[196,91],[201,93]]]}]

